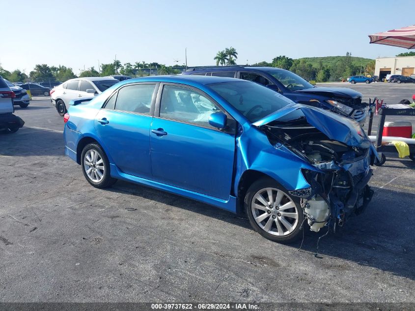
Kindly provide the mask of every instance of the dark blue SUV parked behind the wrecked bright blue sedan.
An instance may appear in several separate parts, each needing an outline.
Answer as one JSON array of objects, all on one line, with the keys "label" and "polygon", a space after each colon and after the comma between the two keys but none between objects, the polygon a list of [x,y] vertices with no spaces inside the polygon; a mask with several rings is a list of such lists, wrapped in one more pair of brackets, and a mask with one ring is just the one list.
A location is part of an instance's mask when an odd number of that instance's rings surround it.
[{"label": "dark blue SUV parked behind the wrecked bright blue sedan", "polygon": [[346,87],[316,87],[291,71],[273,67],[211,66],[189,68],[184,75],[230,77],[265,85],[289,99],[349,116],[363,126],[366,120],[362,94]]}]

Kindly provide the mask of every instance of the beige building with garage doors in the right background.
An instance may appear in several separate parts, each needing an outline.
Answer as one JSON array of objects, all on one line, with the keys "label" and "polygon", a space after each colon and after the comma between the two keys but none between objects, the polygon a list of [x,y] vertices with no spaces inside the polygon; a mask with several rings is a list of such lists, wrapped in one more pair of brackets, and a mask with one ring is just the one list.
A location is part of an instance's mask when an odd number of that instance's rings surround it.
[{"label": "beige building with garage doors in the right background", "polygon": [[386,75],[414,75],[415,56],[404,57],[379,57],[376,58],[375,76],[379,76],[379,80],[385,78]]}]

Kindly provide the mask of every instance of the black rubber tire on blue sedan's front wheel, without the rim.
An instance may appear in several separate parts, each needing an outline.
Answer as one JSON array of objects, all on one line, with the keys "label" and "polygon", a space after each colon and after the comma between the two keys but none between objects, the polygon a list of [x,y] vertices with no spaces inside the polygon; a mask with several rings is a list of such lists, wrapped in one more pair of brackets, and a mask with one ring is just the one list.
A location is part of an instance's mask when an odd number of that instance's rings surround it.
[{"label": "black rubber tire on blue sedan's front wheel, without the rim", "polygon": [[[295,228],[293,229],[293,231],[291,233],[284,232],[284,235],[282,235],[282,236],[277,236],[277,235],[274,235],[274,234],[270,234],[267,231],[265,231],[262,227],[260,227],[257,224],[257,222],[255,221],[254,216],[253,216],[253,211],[251,209],[251,204],[252,204],[254,196],[257,194],[257,192],[259,192],[259,191],[261,191],[265,188],[274,188],[274,189],[277,189],[277,191],[281,191],[284,194],[284,197],[281,200],[281,204],[283,204],[284,201],[289,202],[290,200],[294,203],[295,207],[293,207],[289,210],[288,209],[284,210],[284,211],[297,212],[298,213],[297,222],[292,219],[294,224],[291,224],[291,225],[293,225],[293,227],[295,225]],[[281,186],[279,183],[277,183],[277,181],[275,181],[274,179],[272,179],[272,178],[261,178],[261,179],[255,181],[254,183],[252,183],[252,185],[249,187],[249,189],[247,191],[244,203],[245,203],[245,212],[248,216],[250,225],[252,226],[252,228],[256,232],[258,232],[259,234],[261,234],[263,237],[267,238],[268,240],[278,242],[278,243],[291,243],[291,242],[296,241],[297,239],[299,239],[302,236],[302,232],[304,230],[304,226],[302,227],[302,223],[303,223],[303,220],[304,220],[304,214],[303,214],[303,209],[300,206],[300,199],[296,198],[296,197],[289,196],[288,195],[288,190],[286,190],[283,186]],[[281,206],[281,204],[279,204],[278,206]],[[270,221],[271,217],[273,219],[277,219],[277,218],[281,219],[281,217],[284,217],[284,216],[281,216],[280,213],[277,213],[276,209],[277,209],[277,207],[274,207],[274,211],[273,211],[274,214],[272,216],[271,216],[271,213],[264,212],[264,213],[270,214],[270,217],[264,219],[263,223],[266,223],[266,220],[267,220],[267,222]],[[275,215],[275,213],[277,213],[277,215]],[[263,215],[263,214],[260,214],[260,215]],[[284,220],[287,221],[287,218],[284,217]],[[271,222],[272,222],[272,225],[271,225],[272,230],[274,230],[274,232],[277,233],[278,229],[277,229],[277,226],[276,226],[276,223],[275,223],[276,221],[271,220]],[[280,224],[282,224],[282,223],[280,222]],[[288,227],[283,226],[283,229],[288,229]],[[288,231],[289,230],[287,230],[287,232]]]}]

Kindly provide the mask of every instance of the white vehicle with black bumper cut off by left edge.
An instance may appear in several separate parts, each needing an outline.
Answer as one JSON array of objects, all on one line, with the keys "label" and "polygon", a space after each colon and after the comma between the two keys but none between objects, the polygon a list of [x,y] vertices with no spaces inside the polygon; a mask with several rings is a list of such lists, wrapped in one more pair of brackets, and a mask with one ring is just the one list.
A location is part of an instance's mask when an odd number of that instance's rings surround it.
[{"label": "white vehicle with black bumper cut off by left edge", "polygon": [[15,97],[15,93],[0,76],[0,132],[2,133],[15,133],[25,124],[20,117],[13,114]]}]

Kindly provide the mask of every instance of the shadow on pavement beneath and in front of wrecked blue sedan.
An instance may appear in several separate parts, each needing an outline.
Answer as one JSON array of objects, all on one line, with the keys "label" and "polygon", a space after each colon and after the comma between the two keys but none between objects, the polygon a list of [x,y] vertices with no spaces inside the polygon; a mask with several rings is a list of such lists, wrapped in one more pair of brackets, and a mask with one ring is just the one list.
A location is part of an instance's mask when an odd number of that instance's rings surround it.
[{"label": "shadow on pavement beneath and in front of wrecked blue sedan", "polygon": [[[415,280],[413,264],[415,240],[409,234],[409,231],[413,231],[410,229],[413,228],[410,215],[415,195],[406,193],[402,196],[402,193],[387,189],[376,187],[373,189],[375,195],[363,214],[351,217],[343,227],[338,228],[335,234],[331,231],[320,239],[317,257],[338,258]],[[107,190],[135,195],[191,210],[232,225],[251,228],[248,219],[244,217],[152,188],[137,187],[134,184],[118,181],[113,188]],[[400,198],[399,205],[396,204],[396,198]],[[322,228],[318,233],[309,231],[308,226],[305,227],[307,231],[304,232],[301,252],[309,252],[311,255],[316,253],[318,238],[327,232],[327,227]],[[300,248],[301,243],[300,239],[288,246]],[[338,262],[333,264],[339,265]],[[347,266],[345,265],[344,269],[347,269]],[[337,268],[342,269],[342,267]]]}]

